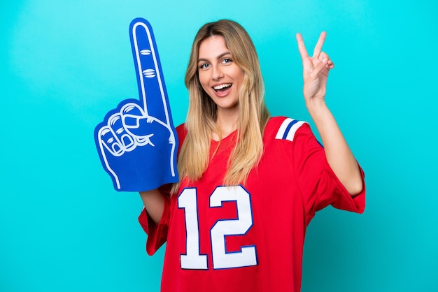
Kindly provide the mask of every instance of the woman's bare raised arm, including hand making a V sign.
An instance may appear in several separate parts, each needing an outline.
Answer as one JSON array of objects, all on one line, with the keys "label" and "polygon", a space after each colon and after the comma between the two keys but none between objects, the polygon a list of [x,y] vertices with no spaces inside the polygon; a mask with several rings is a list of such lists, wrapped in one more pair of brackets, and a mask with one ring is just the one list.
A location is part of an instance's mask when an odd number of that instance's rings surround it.
[{"label": "woman's bare raised arm, including hand making a V sign", "polygon": [[330,167],[344,184],[348,193],[354,196],[362,191],[362,175],[358,162],[325,103],[328,73],[334,68],[328,55],[321,52],[325,36],[325,31],[323,31],[313,50],[313,56],[309,57],[301,34],[297,34],[299,54],[303,62],[304,100],[323,140],[325,156]]}]

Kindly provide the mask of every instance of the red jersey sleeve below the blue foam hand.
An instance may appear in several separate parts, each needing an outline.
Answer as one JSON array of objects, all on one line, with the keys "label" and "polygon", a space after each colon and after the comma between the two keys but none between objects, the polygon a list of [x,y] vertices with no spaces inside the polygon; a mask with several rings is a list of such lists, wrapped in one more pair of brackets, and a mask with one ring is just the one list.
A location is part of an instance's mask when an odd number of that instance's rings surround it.
[{"label": "red jersey sleeve below the blue foam hand", "polygon": [[168,190],[168,186],[160,188],[160,191],[164,193],[164,210],[158,225],[155,224],[152,218],[150,218],[145,207],[143,207],[139,216],[139,223],[148,235],[148,239],[146,240],[146,251],[150,256],[155,254],[155,251],[160,249],[167,240],[170,219],[170,197]]}]

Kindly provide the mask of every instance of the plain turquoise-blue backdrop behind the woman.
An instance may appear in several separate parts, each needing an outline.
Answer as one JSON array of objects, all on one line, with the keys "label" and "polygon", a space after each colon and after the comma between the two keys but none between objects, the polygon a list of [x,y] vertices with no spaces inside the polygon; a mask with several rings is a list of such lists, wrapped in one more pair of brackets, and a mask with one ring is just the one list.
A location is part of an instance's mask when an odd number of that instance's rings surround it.
[{"label": "plain turquoise-blue backdrop behind the woman", "polygon": [[[0,291],[159,291],[138,194],[117,193],[93,130],[137,98],[129,23],[153,25],[175,124],[199,27],[256,45],[273,115],[309,120],[295,33],[325,29],[327,103],[365,169],[367,207],[321,211],[302,291],[438,291],[436,1],[1,1]],[[278,266],[281,268],[281,265]]]}]

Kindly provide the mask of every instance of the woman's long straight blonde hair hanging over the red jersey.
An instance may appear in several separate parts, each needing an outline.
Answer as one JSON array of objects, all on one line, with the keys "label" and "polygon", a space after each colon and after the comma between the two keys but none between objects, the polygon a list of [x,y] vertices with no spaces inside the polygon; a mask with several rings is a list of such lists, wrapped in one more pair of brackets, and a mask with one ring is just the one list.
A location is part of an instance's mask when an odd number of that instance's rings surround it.
[{"label": "woman's long straight blonde hair hanging over the red jersey", "polygon": [[212,133],[221,133],[216,124],[216,103],[204,92],[198,78],[199,45],[210,36],[225,38],[225,45],[233,61],[244,72],[239,92],[239,135],[229,156],[223,183],[245,183],[250,170],[257,165],[262,156],[263,131],[269,119],[269,112],[264,103],[264,84],[253,41],[246,30],[232,20],[204,24],[193,41],[185,73],[185,86],[188,88],[190,101],[185,122],[187,136],[178,156],[178,172],[181,180],[199,180],[209,166]]}]

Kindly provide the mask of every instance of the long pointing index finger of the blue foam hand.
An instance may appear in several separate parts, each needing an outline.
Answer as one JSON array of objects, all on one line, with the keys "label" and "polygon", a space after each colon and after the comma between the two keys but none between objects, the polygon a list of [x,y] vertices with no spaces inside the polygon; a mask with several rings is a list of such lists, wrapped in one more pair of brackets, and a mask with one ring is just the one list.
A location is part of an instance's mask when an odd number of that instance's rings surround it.
[{"label": "long pointing index finger of the blue foam hand", "polygon": [[129,26],[129,36],[136,67],[137,86],[144,112],[170,125],[169,98],[150,23],[143,18],[136,18]]}]

